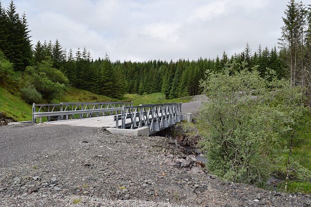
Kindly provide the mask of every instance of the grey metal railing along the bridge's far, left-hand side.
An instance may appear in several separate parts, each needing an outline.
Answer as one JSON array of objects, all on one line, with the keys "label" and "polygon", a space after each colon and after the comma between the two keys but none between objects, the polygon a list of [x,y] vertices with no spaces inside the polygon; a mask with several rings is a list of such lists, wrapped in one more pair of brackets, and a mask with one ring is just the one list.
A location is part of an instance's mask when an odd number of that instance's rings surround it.
[{"label": "grey metal railing along the bridge's far, left-hand side", "polygon": [[122,107],[132,106],[133,102],[62,102],[59,104],[33,104],[33,123],[47,121],[105,116],[121,113]]}]

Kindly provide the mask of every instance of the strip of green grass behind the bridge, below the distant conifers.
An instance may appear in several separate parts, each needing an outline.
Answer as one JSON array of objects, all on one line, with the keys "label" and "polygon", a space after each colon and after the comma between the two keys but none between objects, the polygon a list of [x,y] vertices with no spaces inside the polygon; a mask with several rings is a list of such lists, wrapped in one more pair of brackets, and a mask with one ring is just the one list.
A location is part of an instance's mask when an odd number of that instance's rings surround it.
[{"label": "strip of green grass behind the bridge, below the distant conifers", "polygon": [[133,101],[134,106],[139,104],[155,104],[155,103],[175,103],[175,102],[189,102],[190,97],[166,99],[161,93],[138,95],[138,94],[125,94],[121,99],[122,101]]}]

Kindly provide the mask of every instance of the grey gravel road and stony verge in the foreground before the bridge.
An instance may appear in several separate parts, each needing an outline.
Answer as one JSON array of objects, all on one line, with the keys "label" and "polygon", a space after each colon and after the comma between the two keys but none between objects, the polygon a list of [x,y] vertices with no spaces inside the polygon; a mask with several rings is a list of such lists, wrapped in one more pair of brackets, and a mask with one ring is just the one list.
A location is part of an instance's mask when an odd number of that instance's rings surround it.
[{"label": "grey gravel road and stony verge in the foreground before the bridge", "polygon": [[0,207],[310,207],[310,195],[221,181],[165,137],[0,127]]}]

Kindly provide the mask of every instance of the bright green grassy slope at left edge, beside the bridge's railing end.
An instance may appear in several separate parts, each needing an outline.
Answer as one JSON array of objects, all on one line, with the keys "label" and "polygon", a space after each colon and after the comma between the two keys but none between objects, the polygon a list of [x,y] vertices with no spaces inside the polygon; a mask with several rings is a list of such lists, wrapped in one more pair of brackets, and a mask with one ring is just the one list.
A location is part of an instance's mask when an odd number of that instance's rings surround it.
[{"label": "bright green grassy slope at left edge, beside the bridge's railing end", "polygon": [[32,106],[0,86],[0,111],[15,121],[32,120]]}]

